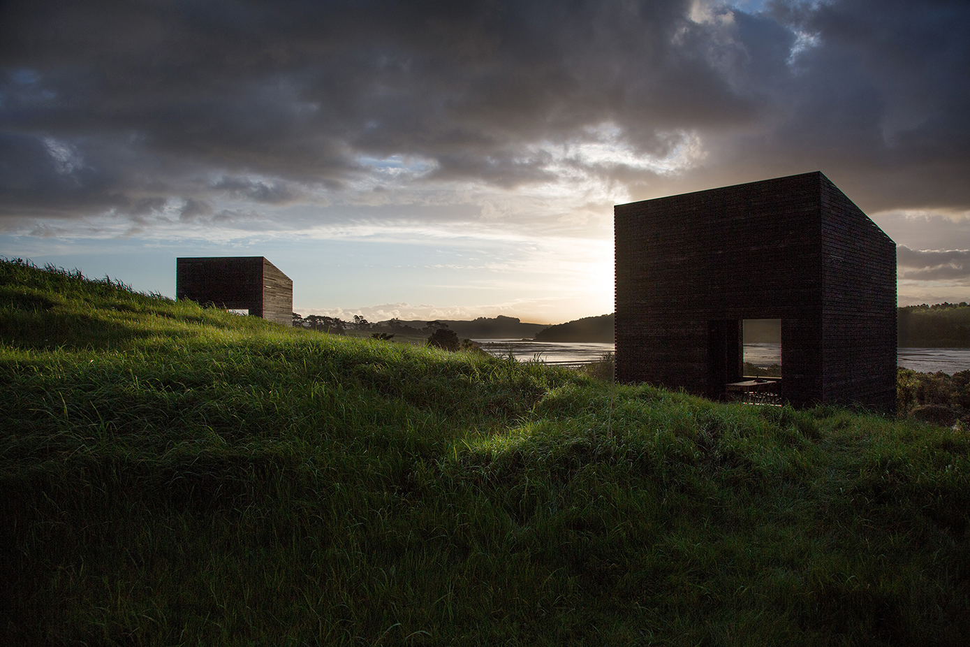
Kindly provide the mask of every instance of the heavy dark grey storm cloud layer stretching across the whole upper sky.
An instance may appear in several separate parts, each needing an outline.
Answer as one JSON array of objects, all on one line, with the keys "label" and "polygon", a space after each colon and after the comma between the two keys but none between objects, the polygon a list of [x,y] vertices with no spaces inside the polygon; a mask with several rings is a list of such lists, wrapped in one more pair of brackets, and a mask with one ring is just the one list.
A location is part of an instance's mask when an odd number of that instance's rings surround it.
[{"label": "heavy dark grey storm cloud layer stretching across the whole upper sky", "polygon": [[701,138],[678,178],[587,165],[645,196],[819,169],[867,209],[970,204],[964,2],[708,9],[6,3],[0,215],[213,217],[339,191],[394,155],[427,160],[426,182],[514,187],[555,179],[549,146],[602,124],[661,158]]}]

